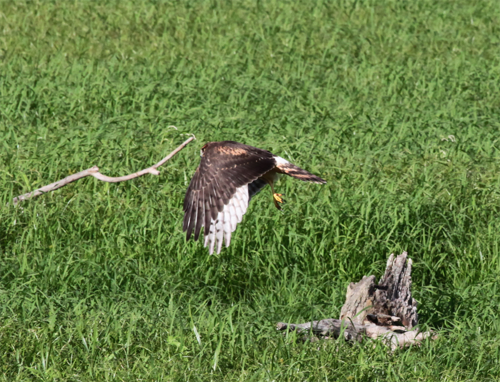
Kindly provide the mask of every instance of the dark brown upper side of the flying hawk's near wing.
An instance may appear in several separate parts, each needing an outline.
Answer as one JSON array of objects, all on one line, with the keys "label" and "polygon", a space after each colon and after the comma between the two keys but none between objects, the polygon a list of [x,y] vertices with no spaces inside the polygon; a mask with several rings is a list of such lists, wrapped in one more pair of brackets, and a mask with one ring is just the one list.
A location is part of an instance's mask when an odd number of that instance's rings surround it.
[{"label": "dark brown upper side of the flying hawk's near wing", "polygon": [[210,220],[229,203],[236,189],[275,165],[273,155],[266,150],[233,141],[207,143],[184,197],[182,230],[186,231],[186,239],[194,229],[197,240],[202,226],[207,235]]}]

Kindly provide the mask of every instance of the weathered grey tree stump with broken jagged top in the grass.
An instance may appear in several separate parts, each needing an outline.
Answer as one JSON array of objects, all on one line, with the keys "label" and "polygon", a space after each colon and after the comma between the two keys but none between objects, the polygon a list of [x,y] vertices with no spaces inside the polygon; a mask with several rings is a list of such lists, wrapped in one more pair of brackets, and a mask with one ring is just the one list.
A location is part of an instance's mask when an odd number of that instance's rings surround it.
[{"label": "weathered grey tree stump with broken jagged top in the grass", "polygon": [[297,330],[317,338],[338,338],[361,342],[365,338],[381,338],[392,350],[419,344],[431,331],[412,328],[418,323],[416,301],[411,297],[411,259],[403,252],[391,254],[385,273],[378,284],[375,276],[364,276],[347,287],[340,319],[326,318],[301,324],[278,322],[278,330]]}]

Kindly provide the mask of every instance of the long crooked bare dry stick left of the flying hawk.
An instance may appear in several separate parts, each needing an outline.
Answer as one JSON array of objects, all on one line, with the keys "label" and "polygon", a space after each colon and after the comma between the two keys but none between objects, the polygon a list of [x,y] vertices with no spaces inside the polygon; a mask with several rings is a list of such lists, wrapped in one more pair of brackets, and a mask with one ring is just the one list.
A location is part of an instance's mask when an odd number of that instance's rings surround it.
[{"label": "long crooked bare dry stick left of the flying hawk", "polygon": [[164,157],[162,160],[160,160],[155,165],[152,165],[151,167],[148,167],[144,170],[135,172],[133,174],[125,175],[125,176],[118,176],[116,178],[113,178],[110,176],[102,175],[99,172],[99,168],[97,166],[93,166],[93,167],[87,168],[86,170],[77,172],[76,174],[66,176],[64,179],[58,180],[57,182],[51,183],[47,186],[44,186],[44,187],[38,188],[34,191],[28,192],[27,194],[17,196],[17,197],[12,199],[12,204],[16,205],[21,200],[26,200],[26,199],[32,198],[34,196],[45,194],[49,191],[57,190],[58,188],[61,188],[62,186],[65,186],[68,183],[74,182],[75,180],[84,178],[84,177],[89,176],[89,175],[91,175],[94,178],[97,178],[99,180],[102,180],[103,182],[109,182],[109,183],[123,182],[125,180],[137,178],[138,176],[142,176],[144,174],[159,175],[159,171],[156,170],[156,168],[161,166],[163,163],[165,163],[167,160],[169,160],[171,157],[173,157],[175,154],[177,154],[180,150],[182,150],[193,139],[195,139],[194,135],[192,137],[189,137],[188,139],[186,139],[182,144],[179,145],[179,147],[177,147],[175,150],[173,150],[170,154],[168,154],[166,157]]}]

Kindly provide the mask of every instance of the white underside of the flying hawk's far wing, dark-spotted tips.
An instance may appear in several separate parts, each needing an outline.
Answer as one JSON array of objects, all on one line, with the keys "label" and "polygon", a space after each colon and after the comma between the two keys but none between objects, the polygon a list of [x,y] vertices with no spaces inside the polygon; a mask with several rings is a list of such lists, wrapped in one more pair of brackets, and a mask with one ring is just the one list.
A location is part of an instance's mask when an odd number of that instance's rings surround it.
[{"label": "white underside of the flying hawk's far wing, dark-spotted tips", "polygon": [[248,185],[241,186],[236,189],[229,203],[224,205],[215,219],[210,219],[210,227],[208,234],[205,235],[205,244],[208,246],[208,252],[220,253],[222,249],[222,238],[225,246],[228,247],[231,242],[231,232],[236,229],[236,225],[241,222],[243,215],[248,207]]}]

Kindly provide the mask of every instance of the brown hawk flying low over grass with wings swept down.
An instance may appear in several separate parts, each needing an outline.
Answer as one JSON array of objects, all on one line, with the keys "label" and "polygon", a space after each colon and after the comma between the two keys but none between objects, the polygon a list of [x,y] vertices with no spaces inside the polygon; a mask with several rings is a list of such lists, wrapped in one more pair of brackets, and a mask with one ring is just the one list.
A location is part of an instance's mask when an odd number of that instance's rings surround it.
[{"label": "brown hawk flying low over grass with wings swept down", "polygon": [[279,174],[326,183],[267,150],[234,141],[208,142],[200,156],[184,197],[182,231],[189,240],[194,230],[194,240],[198,240],[204,227],[204,246],[208,246],[210,254],[215,248],[220,253],[222,238],[229,246],[231,233],[243,218],[251,197],[265,185],[271,188],[274,206],[281,209],[282,194],[275,193],[273,187]]}]

